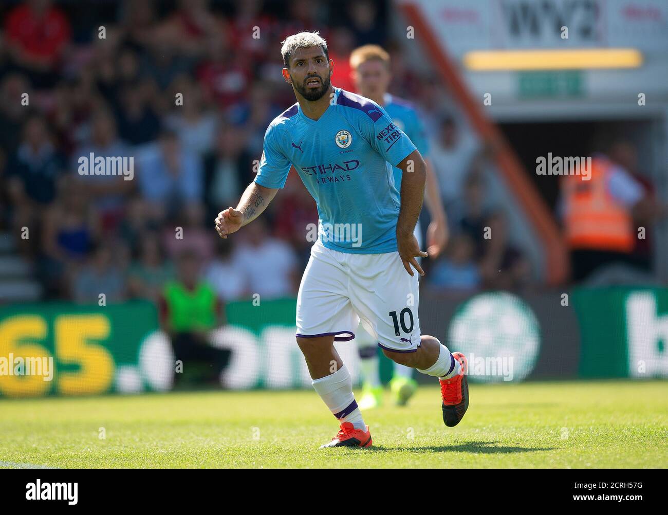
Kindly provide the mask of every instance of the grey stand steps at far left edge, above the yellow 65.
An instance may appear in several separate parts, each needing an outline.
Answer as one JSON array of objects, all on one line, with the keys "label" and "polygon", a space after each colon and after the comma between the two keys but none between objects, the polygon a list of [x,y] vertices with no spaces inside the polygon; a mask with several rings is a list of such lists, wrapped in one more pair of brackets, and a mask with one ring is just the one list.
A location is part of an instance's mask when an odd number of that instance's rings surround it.
[{"label": "grey stand steps at far left edge, above the yellow 65", "polygon": [[13,235],[0,232],[0,305],[36,301],[41,294],[33,268],[17,252]]}]

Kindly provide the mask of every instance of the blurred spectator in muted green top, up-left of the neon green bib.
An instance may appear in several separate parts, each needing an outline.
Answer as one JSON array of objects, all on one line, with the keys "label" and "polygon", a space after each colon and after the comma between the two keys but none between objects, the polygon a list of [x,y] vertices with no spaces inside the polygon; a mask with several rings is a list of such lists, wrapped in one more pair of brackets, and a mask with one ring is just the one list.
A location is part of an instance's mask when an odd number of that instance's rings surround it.
[{"label": "blurred spectator in muted green top, up-left of the neon green bib", "polygon": [[158,302],[164,285],[173,277],[174,269],[166,260],[160,235],[144,233],[136,259],[128,271],[130,297]]}]

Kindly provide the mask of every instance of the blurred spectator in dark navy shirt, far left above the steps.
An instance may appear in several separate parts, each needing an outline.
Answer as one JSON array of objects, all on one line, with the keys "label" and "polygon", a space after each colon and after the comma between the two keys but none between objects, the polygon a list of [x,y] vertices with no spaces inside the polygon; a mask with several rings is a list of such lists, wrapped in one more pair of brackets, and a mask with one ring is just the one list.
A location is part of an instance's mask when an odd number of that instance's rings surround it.
[{"label": "blurred spectator in dark navy shirt, far left above the steps", "polygon": [[[23,127],[23,141],[7,166],[17,231],[21,227],[34,228],[41,221],[47,206],[55,200],[64,167],[64,157],[53,145],[44,118],[39,115],[28,118]],[[19,240],[25,254],[32,255],[37,250],[32,244],[38,239]]]}]

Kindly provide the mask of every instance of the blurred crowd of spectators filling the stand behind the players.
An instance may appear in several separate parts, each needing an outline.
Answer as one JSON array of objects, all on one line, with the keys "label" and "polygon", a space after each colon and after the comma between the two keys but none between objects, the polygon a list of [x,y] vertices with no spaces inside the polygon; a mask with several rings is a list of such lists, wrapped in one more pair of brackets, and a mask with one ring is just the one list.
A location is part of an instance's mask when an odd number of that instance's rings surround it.
[{"label": "blurred crowd of spectators filling the stand behind the players", "polygon": [[[29,229],[17,243],[47,299],[96,302],[106,292],[108,302],[159,301],[185,252],[222,302],[295,295],[317,212],[294,170],[265,215],[234,238],[221,240],[212,225],[253,180],[269,122],[295,102],[281,76],[287,35],[321,29],[341,88],[354,90],[351,49],[380,43],[392,55],[393,94],[418,106],[446,97],[407,66],[373,1],[351,1],[345,20],[308,0],[128,0],[90,17],[77,14],[82,7],[28,0],[3,12],[0,223]],[[425,121],[437,172],[448,177],[453,235],[431,284],[521,285],[521,253],[480,238],[504,217],[484,211],[474,138],[450,114]],[[133,156],[132,180],[79,174],[91,153]]]}]

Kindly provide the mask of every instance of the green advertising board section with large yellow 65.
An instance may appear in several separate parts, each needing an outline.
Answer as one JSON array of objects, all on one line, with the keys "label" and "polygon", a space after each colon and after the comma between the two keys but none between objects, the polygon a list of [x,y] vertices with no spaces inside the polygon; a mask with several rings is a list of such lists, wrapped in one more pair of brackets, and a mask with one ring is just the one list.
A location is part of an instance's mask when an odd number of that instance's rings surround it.
[{"label": "green advertising board section with large yellow 65", "polygon": [[0,395],[84,395],[150,389],[140,354],[158,329],[147,302],[0,309]]}]

